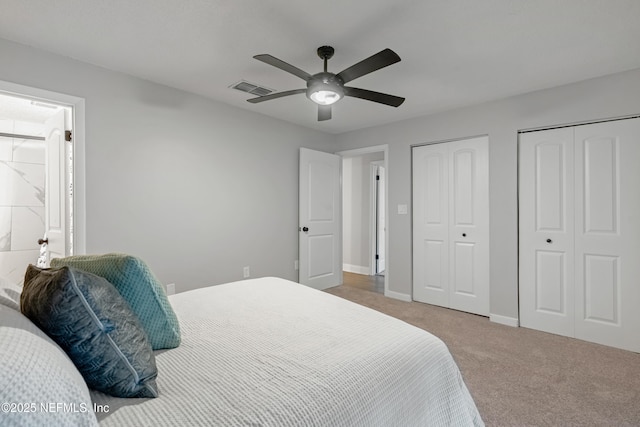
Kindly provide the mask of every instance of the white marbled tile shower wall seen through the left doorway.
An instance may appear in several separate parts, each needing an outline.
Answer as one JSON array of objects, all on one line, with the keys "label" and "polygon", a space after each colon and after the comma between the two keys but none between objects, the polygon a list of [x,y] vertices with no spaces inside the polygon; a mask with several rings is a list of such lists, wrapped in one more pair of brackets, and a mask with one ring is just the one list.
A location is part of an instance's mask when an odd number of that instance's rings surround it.
[{"label": "white marbled tile shower wall seen through the left doorway", "polygon": [[[42,136],[41,123],[0,118],[0,132]],[[44,235],[44,141],[0,137],[0,277],[22,283]]]}]

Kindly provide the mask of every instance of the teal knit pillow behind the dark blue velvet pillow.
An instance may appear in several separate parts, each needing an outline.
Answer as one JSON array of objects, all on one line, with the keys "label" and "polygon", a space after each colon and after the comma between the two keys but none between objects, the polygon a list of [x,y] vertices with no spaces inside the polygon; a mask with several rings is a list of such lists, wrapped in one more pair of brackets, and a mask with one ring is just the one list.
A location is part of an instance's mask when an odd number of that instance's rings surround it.
[{"label": "teal knit pillow behind the dark blue velvet pillow", "polygon": [[180,345],[180,325],[164,286],[141,259],[126,254],[77,255],[51,260],[104,277],[120,292],[140,319],[154,350]]}]

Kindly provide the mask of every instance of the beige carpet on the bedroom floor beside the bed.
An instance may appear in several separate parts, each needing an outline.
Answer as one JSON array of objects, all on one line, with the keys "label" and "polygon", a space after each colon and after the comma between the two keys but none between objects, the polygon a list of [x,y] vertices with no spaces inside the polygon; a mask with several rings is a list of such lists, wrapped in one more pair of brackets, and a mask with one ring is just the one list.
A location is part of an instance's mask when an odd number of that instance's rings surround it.
[{"label": "beige carpet on the bedroom floor beside the bed", "polygon": [[442,339],[488,426],[640,426],[638,353],[347,286],[327,292]]}]

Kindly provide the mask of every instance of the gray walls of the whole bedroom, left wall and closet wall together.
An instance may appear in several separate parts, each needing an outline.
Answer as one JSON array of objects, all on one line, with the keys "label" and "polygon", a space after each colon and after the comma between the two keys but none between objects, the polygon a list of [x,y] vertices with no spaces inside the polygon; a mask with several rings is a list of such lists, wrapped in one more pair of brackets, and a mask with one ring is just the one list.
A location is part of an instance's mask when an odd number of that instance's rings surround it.
[{"label": "gray walls of the whole bedroom, left wall and closet wall together", "polygon": [[389,144],[389,285],[410,295],[411,145],[488,134],[491,313],[516,318],[518,130],[640,113],[633,70],[334,136],[3,40],[0,58],[0,80],[86,100],[87,252],[137,254],[178,291],[244,265],[295,280],[298,148]]}]

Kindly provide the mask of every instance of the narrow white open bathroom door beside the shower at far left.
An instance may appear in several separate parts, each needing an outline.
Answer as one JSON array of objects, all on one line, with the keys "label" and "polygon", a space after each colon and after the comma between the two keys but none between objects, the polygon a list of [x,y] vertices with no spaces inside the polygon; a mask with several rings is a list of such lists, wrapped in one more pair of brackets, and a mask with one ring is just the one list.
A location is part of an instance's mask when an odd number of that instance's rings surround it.
[{"label": "narrow white open bathroom door beside the shower at far left", "polygon": [[48,239],[46,265],[52,258],[67,255],[67,197],[65,110],[60,108],[45,123],[45,236]]}]

